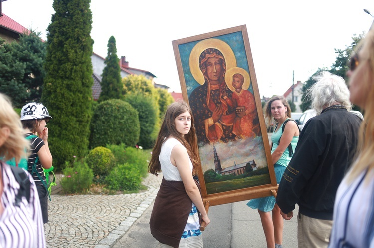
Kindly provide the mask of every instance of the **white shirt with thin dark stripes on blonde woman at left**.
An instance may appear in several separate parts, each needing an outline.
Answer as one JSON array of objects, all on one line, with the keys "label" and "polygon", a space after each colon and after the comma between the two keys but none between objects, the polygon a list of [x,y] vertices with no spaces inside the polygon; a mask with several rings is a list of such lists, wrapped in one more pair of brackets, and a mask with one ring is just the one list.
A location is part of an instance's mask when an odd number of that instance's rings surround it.
[{"label": "white shirt with thin dark stripes on blonde woman at left", "polygon": [[0,169],[4,185],[1,195],[4,212],[0,216],[0,247],[45,248],[44,225],[35,182],[27,173],[31,182],[30,202],[22,197],[20,206],[14,206],[19,183],[15,180],[10,165],[0,161]]}]

